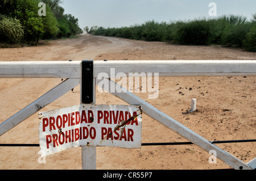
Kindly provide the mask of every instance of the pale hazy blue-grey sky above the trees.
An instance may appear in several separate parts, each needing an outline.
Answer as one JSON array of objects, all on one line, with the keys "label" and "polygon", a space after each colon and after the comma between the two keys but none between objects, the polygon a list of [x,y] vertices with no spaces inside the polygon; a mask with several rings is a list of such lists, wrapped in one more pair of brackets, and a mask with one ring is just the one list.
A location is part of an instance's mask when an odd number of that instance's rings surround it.
[{"label": "pale hazy blue-grey sky above the trees", "polygon": [[[62,0],[65,14],[79,19],[80,28],[88,26],[129,27],[148,20],[166,22],[256,13],[255,0]],[[209,3],[214,2],[216,11]],[[210,16],[216,12],[216,16]]]}]

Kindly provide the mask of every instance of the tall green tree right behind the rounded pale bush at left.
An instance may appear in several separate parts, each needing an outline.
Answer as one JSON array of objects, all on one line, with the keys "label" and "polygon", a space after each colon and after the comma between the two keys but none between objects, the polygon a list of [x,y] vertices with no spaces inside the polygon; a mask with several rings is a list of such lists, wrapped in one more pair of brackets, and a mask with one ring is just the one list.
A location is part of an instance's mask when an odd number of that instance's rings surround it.
[{"label": "tall green tree right behind the rounded pale bush at left", "polygon": [[49,6],[46,16],[38,15],[39,0],[5,0],[0,3],[0,13],[20,21],[24,30],[24,40],[38,43],[40,36],[55,35],[58,31],[57,20]]}]

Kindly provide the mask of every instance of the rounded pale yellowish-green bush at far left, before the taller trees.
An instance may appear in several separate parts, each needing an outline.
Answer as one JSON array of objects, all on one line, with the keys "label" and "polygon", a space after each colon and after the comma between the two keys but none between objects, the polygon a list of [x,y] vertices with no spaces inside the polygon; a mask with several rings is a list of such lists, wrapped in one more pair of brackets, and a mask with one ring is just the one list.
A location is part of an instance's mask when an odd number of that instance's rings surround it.
[{"label": "rounded pale yellowish-green bush at far left, before the taller trees", "polygon": [[0,15],[0,40],[2,43],[19,44],[22,42],[24,30],[20,21]]}]

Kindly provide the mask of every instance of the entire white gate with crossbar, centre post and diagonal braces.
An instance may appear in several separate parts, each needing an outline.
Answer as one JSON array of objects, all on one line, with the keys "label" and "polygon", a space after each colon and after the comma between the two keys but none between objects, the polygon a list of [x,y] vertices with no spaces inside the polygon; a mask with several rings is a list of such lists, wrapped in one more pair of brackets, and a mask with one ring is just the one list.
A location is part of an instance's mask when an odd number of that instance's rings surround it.
[{"label": "entire white gate with crossbar, centre post and diagonal braces", "polygon": [[[89,60],[88,60],[89,61]],[[82,62],[86,62],[82,61]],[[110,73],[111,69],[115,73]],[[225,75],[256,75],[256,61],[236,61],[236,60],[184,60],[184,61],[94,61],[93,70],[82,68],[81,61],[34,61],[34,62],[0,62],[0,78],[66,78],[65,81],[48,91],[46,94],[36,99],[34,102],[15,113],[6,121],[0,124],[0,136],[10,131],[16,125],[26,120],[34,113],[46,107],[49,103],[60,98],[69,90],[73,89],[83,79],[88,80],[85,71],[92,71],[92,101],[96,100],[97,75],[107,73],[109,78],[114,78],[118,73],[158,73],[159,77],[170,76],[225,76]],[[113,86],[117,83],[111,79],[106,81]],[[85,81],[86,82],[86,81]],[[82,86],[81,86],[82,87]],[[102,87],[103,88],[103,87]],[[82,89],[82,88],[81,88]],[[104,88],[105,89],[105,88]],[[170,128],[180,136],[183,136],[200,148],[210,151],[216,150],[217,157],[234,169],[255,169],[256,159],[247,164],[232,154],[222,150],[218,146],[210,143],[204,137],[191,131],[172,117],[161,112],[151,104],[121,87],[121,92],[110,92],[131,105],[141,105],[143,112],[159,123]],[[82,90],[80,90],[82,92]],[[82,103],[82,94],[81,103]],[[82,169],[96,169],[96,147],[82,146]]]}]

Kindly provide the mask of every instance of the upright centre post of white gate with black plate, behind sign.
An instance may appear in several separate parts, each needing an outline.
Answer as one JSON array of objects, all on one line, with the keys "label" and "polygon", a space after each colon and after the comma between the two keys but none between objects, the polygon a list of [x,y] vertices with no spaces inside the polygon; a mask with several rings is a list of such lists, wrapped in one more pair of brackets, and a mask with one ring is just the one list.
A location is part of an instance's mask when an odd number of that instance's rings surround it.
[{"label": "upright centre post of white gate with black plate, behind sign", "polygon": [[[81,67],[80,103],[96,104],[96,81],[93,78],[93,60],[82,60]],[[82,170],[96,170],[96,146],[81,147]]]}]

